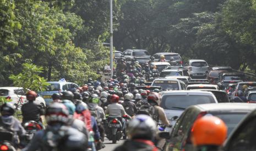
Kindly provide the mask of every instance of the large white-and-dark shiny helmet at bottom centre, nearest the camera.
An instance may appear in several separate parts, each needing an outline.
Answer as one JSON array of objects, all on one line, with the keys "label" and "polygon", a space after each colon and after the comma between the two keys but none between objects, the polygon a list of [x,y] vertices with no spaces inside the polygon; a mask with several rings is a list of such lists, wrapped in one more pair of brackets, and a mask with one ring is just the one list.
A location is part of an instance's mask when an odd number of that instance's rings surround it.
[{"label": "large white-and-dark shiny helmet at bottom centre, nearest the camera", "polygon": [[130,139],[152,140],[156,134],[156,123],[149,115],[136,115],[129,121],[127,133]]}]

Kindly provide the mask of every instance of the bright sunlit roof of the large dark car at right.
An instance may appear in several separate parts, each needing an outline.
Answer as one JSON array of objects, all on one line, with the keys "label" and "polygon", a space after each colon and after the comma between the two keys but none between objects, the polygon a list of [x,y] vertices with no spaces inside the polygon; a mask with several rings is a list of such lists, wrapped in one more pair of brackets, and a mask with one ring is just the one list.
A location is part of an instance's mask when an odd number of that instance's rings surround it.
[{"label": "bright sunlit roof of the large dark car at right", "polygon": [[252,111],[256,108],[256,103],[209,103],[195,106],[204,111]]}]

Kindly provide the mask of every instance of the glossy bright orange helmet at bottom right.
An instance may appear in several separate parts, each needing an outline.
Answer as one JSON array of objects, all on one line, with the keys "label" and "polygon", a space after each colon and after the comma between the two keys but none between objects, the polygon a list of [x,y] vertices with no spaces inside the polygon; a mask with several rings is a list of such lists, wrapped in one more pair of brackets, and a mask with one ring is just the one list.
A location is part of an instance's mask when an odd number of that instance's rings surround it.
[{"label": "glossy bright orange helmet at bottom right", "polygon": [[227,126],[220,118],[204,116],[194,122],[192,142],[194,146],[222,146],[227,137]]}]

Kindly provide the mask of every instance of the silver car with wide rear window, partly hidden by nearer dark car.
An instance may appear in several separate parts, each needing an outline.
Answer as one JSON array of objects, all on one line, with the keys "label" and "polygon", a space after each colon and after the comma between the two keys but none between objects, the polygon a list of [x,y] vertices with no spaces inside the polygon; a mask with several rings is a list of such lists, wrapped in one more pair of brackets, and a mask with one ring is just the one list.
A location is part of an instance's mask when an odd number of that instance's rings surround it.
[{"label": "silver car with wide rear window, partly hidden by nearer dark car", "polygon": [[160,106],[164,108],[166,117],[171,124],[176,123],[176,119],[189,106],[205,103],[218,103],[212,92],[204,91],[162,91]]}]

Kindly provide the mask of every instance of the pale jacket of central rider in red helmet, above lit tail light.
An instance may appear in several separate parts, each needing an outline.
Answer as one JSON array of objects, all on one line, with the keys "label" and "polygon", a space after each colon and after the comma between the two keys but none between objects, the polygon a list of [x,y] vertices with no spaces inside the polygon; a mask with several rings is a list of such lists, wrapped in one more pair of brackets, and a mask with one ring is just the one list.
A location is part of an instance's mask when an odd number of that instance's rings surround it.
[{"label": "pale jacket of central rider in red helmet, above lit tail light", "polygon": [[112,103],[107,106],[105,114],[109,114],[109,117],[121,118],[124,114],[126,114],[126,111],[124,111],[124,108],[121,104]]}]

